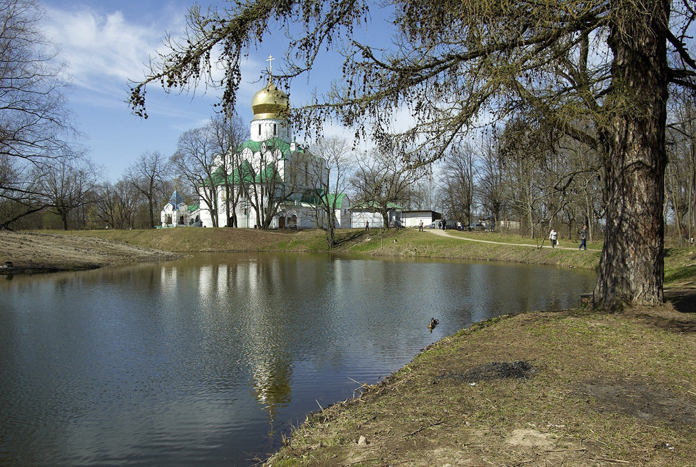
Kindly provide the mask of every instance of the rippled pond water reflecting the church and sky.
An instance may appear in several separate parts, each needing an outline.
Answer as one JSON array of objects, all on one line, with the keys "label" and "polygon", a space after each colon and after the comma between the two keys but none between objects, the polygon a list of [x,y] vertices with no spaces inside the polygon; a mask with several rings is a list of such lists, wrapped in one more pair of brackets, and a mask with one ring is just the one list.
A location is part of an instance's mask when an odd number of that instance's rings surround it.
[{"label": "rippled pond water reflecting the church and sky", "polygon": [[270,254],[0,278],[0,464],[250,466],[351,379],[472,322],[578,306],[595,280]]}]

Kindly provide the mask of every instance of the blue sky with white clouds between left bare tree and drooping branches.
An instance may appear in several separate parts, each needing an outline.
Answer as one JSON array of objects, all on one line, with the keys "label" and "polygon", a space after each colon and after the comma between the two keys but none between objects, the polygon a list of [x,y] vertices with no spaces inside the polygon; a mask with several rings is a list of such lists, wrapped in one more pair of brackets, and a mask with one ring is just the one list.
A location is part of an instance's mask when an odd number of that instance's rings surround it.
[{"label": "blue sky with white clouds between left bare tree and drooping branches", "polygon": [[[166,95],[161,88],[150,86],[147,120],[132,115],[125,102],[129,95],[128,80],[144,77],[149,57],[163,49],[166,31],[173,36],[180,34],[191,3],[191,0],[42,0],[46,10],[45,33],[58,45],[72,83],[67,97],[75,123],[86,136],[84,144],[90,149],[91,157],[113,182],[143,152],[172,155],[182,132],[204,125],[214,114],[212,104],[219,97],[216,90],[196,95]],[[214,2],[198,3],[205,6]],[[244,122],[251,120],[251,97],[262,87],[254,81],[267,68],[265,60],[269,54],[282,57],[286,45],[285,36],[278,33],[264,40],[259,49],[249,51],[242,67],[244,83],[237,100],[237,111]],[[324,63],[321,70],[312,72],[309,80],[294,81],[292,104],[306,102],[317,83],[326,86],[331,79],[339,78],[340,63],[335,61],[330,66]],[[277,64],[274,61],[274,66]],[[340,132],[341,129],[331,129],[332,134]]]}]

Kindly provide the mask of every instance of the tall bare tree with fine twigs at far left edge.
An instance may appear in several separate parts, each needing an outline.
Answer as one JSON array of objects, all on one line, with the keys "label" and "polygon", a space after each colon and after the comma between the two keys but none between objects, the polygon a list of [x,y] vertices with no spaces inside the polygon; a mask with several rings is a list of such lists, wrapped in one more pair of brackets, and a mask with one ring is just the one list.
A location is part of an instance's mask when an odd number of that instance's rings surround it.
[{"label": "tall bare tree with fine twigs at far left edge", "polygon": [[[70,125],[62,63],[42,33],[42,11],[33,0],[0,0],[0,200],[8,228],[42,209],[29,174],[45,173],[52,159],[68,159]],[[10,176],[10,174],[12,174]]]}]

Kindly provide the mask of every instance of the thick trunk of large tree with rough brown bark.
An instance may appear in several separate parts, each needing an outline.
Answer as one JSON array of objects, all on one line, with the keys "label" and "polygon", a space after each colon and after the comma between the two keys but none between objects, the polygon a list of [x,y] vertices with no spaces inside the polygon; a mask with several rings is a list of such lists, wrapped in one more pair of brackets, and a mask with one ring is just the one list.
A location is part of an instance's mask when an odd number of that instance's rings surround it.
[{"label": "thick trunk of large tree with rough brown bark", "polygon": [[593,306],[663,301],[667,0],[612,2],[606,240]]}]

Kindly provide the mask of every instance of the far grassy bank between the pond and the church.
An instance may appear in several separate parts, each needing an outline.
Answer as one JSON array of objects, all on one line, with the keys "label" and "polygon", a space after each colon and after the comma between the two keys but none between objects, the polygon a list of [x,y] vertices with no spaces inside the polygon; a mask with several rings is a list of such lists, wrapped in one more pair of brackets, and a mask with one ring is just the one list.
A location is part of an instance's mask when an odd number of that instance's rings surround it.
[{"label": "far grassy bank between the pond and the church", "polygon": [[[174,228],[155,230],[78,230],[55,234],[98,237],[145,248],[184,253],[212,251],[327,251],[321,230],[246,230]],[[415,229],[338,230],[335,251],[362,255],[413,258],[458,258],[549,264],[596,269],[601,244],[578,251],[576,243],[562,239],[562,248],[537,248],[539,242],[490,232],[448,231],[448,236]],[[491,243],[489,243],[491,242]],[[696,277],[696,249],[667,248],[665,281],[674,283]]]}]

